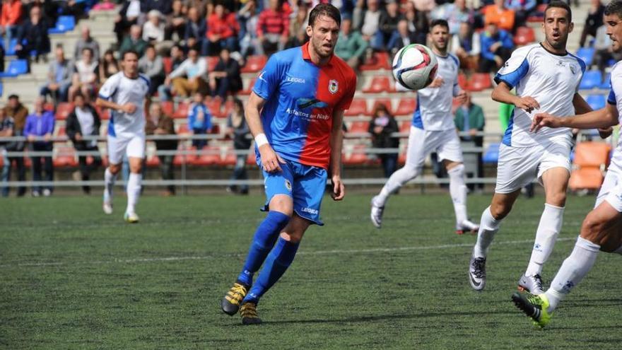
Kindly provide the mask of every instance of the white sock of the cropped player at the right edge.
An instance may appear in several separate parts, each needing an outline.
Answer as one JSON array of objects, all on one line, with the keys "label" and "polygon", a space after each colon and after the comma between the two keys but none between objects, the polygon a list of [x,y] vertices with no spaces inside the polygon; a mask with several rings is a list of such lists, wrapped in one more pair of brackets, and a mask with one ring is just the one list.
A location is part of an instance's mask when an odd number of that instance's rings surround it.
[{"label": "white sock of the cropped player at the right edge", "polygon": [[587,275],[600,250],[600,245],[590,242],[585,238],[578,237],[575,243],[575,249],[564,260],[559,268],[551,288],[544,293],[548,302],[549,312],[553,312],[557,308],[558,303]]}]

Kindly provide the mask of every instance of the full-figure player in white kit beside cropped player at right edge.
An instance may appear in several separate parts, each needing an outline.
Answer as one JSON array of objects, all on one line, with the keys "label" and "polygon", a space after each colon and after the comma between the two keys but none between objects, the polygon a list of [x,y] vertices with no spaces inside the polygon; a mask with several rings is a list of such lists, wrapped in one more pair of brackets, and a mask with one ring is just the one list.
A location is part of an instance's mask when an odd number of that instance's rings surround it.
[{"label": "full-figure player in white kit beside cropped player at right edge", "polygon": [[[486,285],[486,254],[503,218],[510,213],[520,189],[534,180],[544,186],[546,203],[536,231],[527,270],[518,286],[542,293],[541,271],[561,231],[566,189],[570,179],[571,129],[529,132],[536,112],[555,115],[586,113],[591,108],[577,93],[585,63],[566,51],[573,30],[570,7],[551,1],[542,24],[545,40],[512,52],[495,81],[492,98],[515,105],[499,149],[497,185],[491,205],[481,215],[477,243],[469,263],[469,282],[476,291]],[[516,88],[516,95],[510,90]]]}]

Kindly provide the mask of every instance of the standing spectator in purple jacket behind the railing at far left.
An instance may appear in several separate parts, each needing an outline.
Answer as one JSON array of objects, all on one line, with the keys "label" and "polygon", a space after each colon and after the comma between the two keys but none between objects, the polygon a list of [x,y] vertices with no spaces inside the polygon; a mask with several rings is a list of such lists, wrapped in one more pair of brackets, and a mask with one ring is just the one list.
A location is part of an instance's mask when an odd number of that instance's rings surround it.
[{"label": "standing spectator in purple jacket behind the railing at far left", "polygon": [[[35,112],[26,117],[24,136],[28,140],[29,151],[52,153],[54,144],[50,140],[54,133],[54,113],[45,110],[44,104],[45,99],[42,97],[35,100]],[[45,172],[45,181],[54,180],[52,154],[49,156],[31,156],[30,159],[33,162],[33,181],[42,180],[42,170]],[[33,187],[33,197],[39,197],[41,194],[48,197],[52,194],[52,186]]]}]

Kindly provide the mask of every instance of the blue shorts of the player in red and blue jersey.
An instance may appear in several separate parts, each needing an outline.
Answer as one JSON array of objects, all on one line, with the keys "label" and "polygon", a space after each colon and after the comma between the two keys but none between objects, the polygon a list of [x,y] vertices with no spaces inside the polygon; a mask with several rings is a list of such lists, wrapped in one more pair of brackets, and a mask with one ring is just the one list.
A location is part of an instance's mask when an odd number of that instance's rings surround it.
[{"label": "blue shorts of the player in red and blue jersey", "polygon": [[319,220],[319,207],[322,205],[326,188],[326,169],[292,161],[280,165],[283,171],[268,173],[263,170],[266,189],[266,204],[263,210],[268,210],[268,204],[276,194],[285,194],[292,197],[295,214],[319,226],[324,225]]}]

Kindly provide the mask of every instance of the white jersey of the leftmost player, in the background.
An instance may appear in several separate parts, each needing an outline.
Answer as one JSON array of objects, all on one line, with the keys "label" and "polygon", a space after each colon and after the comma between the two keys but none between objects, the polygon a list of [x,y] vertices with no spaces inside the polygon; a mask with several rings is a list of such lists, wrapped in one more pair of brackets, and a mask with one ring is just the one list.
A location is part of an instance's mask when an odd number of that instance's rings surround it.
[{"label": "white jersey of the leftmost player, in the background", "polygon": [[138,78],[131,79],[119,71],[113,74],[104,83],[99,91],[99,97],[119,105],[134,103],[136,111],[132,114],[110,110],[108,134],[117,136],[123,134],[144,134],[145,111],[144,103],[149,91],[149,78],[139,74]]}]

